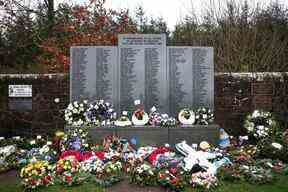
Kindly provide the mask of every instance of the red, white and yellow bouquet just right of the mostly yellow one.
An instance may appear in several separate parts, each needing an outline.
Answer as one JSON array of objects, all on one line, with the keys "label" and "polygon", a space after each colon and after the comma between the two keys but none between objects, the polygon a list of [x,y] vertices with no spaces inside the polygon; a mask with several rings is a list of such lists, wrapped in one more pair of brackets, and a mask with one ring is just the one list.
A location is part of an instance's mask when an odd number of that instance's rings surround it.
[{"label": "red, white and yellow bouquet just right of the mostly yellow one", "polygon": [[68,186],[78,185],[83,180],[80,164],[75,156],[60,159],[56,164],[56,175],[60,183]]}]

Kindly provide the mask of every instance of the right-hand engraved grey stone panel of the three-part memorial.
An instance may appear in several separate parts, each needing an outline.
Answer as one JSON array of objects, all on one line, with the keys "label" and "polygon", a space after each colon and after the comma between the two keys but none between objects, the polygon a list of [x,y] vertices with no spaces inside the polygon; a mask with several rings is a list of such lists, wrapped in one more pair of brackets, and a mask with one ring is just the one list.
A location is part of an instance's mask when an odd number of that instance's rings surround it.
[{"label": "right-hand engraved grey stone panel of the three-part memorial", "polygon": [[168,47],[169,107],[214,107],[213,48]]}]

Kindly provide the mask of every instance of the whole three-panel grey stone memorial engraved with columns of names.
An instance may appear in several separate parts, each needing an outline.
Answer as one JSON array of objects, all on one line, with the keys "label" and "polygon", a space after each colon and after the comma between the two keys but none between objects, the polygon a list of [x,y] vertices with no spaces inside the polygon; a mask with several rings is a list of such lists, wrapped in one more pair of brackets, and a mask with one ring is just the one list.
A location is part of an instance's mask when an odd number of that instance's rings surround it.
[{"label": "whole three-panel grey stone memorial engraved with columns of names", "polygon": [[70,99],[105,99],[117,111],[140,99],[176,114],[183,107],[214,107],[211,47],[167,47],[164,34],[121,34],[116,46],[71,48]]}]

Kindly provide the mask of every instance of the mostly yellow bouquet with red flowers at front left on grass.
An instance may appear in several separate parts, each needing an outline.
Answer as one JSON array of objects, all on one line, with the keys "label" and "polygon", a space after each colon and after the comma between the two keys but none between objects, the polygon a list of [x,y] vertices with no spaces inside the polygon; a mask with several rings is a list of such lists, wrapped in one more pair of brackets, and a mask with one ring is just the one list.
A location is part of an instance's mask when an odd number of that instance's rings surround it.
[{"label": "mostly yellow bouquet with red flowers at front left on grass", "polygon": [[20,172],[22,184],[26,188],[37,188],[54,184],[52,166],[48,161],[37,161],[36,159],[23,167]]}]

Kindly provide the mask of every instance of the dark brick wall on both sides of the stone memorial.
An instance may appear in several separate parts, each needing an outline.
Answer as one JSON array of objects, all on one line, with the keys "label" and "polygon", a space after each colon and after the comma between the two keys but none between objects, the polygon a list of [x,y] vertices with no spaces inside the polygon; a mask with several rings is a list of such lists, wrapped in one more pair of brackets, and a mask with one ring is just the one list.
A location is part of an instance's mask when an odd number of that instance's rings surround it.
[{"label": "dark brick wall on both sides of the stone memorial", "polygon": [[[9,84],[32,84],[32,110],[8,109]],[[215,121],[230,134],[245,134],[244,117],[254,109],[275,112],[288,128],[288,73],[216,73],[214,102]],[[51,134],[63,128],[68,103],[67,74],[0,74],[0,136]]]}]

